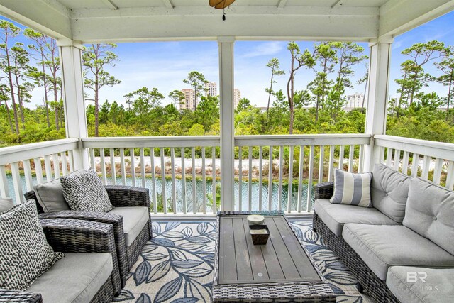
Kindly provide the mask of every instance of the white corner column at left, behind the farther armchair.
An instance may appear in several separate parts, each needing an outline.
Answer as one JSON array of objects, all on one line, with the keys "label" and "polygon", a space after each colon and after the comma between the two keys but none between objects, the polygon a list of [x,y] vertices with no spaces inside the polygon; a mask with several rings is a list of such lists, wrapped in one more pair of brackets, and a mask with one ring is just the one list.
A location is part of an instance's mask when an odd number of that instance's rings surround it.
[{"label": "white corner column at left, behind the farther armchair", "polygon": [[[62,65],[63,104],[67,138],[86,138],[87,116],[84,104],[84,79],[82,72],[82,45],[74,41],[59,43]],[[88,150],[79,148],[73,151],[74,169],[89,167]]]}]

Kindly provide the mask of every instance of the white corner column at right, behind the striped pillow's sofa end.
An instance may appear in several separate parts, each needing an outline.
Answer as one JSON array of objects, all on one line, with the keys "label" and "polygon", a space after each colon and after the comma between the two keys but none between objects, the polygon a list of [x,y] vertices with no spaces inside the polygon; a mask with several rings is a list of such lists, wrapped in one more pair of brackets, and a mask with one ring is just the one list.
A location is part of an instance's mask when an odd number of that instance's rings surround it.
[{"label": "white corner column at right, behind the striped pillow's sofa end", "polygon": [[[370,43],[369,89],[367,92],[367,110],[365,133],[372,136],[386,132],[387,98],[389,84],[389,62],[392,38]],[[372,170],[380,161],[380,150],[375,148],[374,139],[365,145],[364,171]]]}]

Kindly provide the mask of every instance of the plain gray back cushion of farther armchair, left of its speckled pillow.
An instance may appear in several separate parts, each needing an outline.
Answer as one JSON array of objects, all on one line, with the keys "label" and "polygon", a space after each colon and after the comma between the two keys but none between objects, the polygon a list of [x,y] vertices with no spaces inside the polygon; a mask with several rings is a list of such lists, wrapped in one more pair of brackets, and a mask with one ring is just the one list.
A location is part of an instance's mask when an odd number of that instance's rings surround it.
[{"label": "plain gray back cushion of farther armchair, left of its speckled pillow", "polygon": [[63,197],[60,179],[38,184],[33,187],[33,191],[44,212],[70,210],[70,206]]}]

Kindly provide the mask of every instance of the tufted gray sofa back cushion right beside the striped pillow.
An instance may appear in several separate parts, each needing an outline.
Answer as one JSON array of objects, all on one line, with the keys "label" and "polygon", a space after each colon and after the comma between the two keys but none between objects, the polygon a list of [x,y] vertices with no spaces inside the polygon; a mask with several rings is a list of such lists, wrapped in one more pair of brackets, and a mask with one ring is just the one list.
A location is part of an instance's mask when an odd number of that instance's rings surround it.
[{"label": "tufted gray sofa back cushion right beside the striped pillow", "polygon": [[376,164],[372,172],[372,206],[402,223],[411,177],[401,174],[384,164]]}]

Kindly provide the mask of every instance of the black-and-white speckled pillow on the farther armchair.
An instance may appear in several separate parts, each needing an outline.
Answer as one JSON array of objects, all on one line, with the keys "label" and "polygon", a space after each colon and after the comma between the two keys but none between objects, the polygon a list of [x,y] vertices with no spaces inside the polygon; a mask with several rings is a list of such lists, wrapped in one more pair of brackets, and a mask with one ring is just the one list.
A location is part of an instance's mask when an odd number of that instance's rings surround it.
[{"label": "black-and-white speckled pillow on the farther armchair", "polygon": [[60,178],[63,196],[75,211],[107,212],[114,208],[96,172],[77,170]]}]

